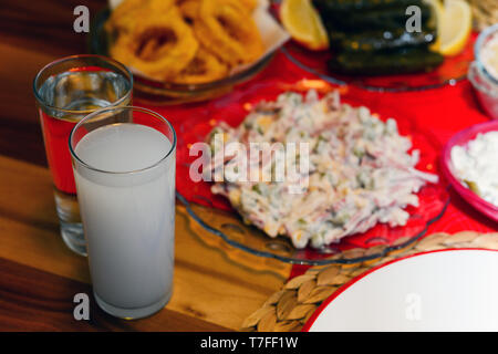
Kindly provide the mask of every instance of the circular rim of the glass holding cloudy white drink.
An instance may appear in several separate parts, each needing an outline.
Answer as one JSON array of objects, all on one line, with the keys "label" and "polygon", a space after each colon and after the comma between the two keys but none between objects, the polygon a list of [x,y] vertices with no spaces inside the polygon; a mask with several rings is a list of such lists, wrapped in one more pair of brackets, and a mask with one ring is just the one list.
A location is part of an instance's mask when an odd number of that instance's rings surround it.
[{"label": "circular rim of the glass holding cloudy white drink", "polygon": [[[139,169],[134,169],[134,170],[127,170],[127,171],[111,171],[111,170],[104,170],[101,168],[96,168],[93,167],[91,165],[89,165],[87,163],[85,163],[84,160],[82,160],[80,158],[80,156],[77,156],[76,152],[73,149],[72,146],[72,139],[74,136],[74,133],[76,132],[77,128],[80,128],[84,123],[86,123],[87,121],[94,118],[95,116],[102,114],[102,113],[106,113],[106,112],[111,112],[111,111],[116,111],[116,110],[122,110],[122,111],[137,111],[137,112],[142,112],[142,113],[146,113],[148,115],[152,115],[156,118],[158,118],[159,121],[163,121],[164,123],[166,123],[166,125],[168,126],[168,128],[172,131],[173,133],[173,142],[172,142],[172,147],[169,148],[169,150],[167,152],[167,154],[165,156],[163,156],[159,160],[157,160],[156,163],[152,164],[151,166],[144,167],[144,168],[139,168]],[[116,124],[116,123],[113,123]],[[112,124],[110,124],[112,125]],[[141,125],[145,125],[145,124],[141,124]],[[69,136],[69,148],[70,148],[70,153],[71,156],[77,162],[80,163],[83,167],[91,169],[93,171],[96,173],[101,173],[101,174],[107,174],[107,175],[116,175],[116,176],[124,176],[124,175],[132,175],[132,174],[139,174],[139,173],[144,173],[147,170],[151,170],[157,166],[159,166],[163,162],[165,162],[170,155],[176,149],[176,143],[177,143],[177,138],[176,138],[176,132],[175,128],[173,127],[172,123],[169,123],[168,119],[166,119],[163,115],[158,114],[157,112],[154,112],[152,110],[147,110],[144,107],[138,107],[138,106],[107,106],[107,107],[103,107],[100,108],[97,111],[94,111],[93,113],[86,115],[85,117],[83,117],[80,122],[77,122],[77,124],[71,129],[71,134]],[[74,147],[75,148],[75,147]]]}]

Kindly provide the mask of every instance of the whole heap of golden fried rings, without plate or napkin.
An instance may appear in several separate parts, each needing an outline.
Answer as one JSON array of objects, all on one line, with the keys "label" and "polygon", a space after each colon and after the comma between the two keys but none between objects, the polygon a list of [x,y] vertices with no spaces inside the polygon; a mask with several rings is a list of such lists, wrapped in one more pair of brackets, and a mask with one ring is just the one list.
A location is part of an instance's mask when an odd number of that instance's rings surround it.
[{"label": "whole heap of golden fried rings, without plate or napkin", "polygon": [[158,80],[196,84],[225,77],[263,51],[251,17],[257,4],[258,0],[124,0],[105,23],[110,55]]}]

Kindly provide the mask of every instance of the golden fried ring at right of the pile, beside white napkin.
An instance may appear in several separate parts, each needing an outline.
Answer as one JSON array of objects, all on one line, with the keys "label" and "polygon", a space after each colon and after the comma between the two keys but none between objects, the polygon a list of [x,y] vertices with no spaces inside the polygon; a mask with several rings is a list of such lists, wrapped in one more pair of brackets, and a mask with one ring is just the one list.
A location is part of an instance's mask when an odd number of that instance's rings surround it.
[{"label": "golden fried ring at right of the pile, beside white napkin", "polygon": [[253,62],[263,53],[258,28],[240,0],[201,0],[194,31],[229,65]]}]

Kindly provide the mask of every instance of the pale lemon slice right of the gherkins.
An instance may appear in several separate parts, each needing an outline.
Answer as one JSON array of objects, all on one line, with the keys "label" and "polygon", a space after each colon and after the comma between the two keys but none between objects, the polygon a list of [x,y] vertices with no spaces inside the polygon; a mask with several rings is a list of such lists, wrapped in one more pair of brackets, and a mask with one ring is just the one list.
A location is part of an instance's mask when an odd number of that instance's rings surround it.
[{"label": "pale lemon slice right of the gherkins", "polygon": [[464,0],[446,0],[438,19],[439,53],[445,56],[460,53],[473,29],[473,12]]}]

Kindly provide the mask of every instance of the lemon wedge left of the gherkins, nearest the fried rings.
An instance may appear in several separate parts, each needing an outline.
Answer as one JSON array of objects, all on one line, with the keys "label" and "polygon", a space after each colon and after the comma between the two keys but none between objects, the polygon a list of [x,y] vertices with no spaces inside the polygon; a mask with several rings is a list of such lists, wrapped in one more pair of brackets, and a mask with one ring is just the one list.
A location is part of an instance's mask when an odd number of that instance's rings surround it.
[{"label": "lemon wedge left of the gherkins, nearest the fried rings", "polygon": [[329,37],[311,0],[283,0],[280,18],[289,34],[311,50],[329,48]]}]

